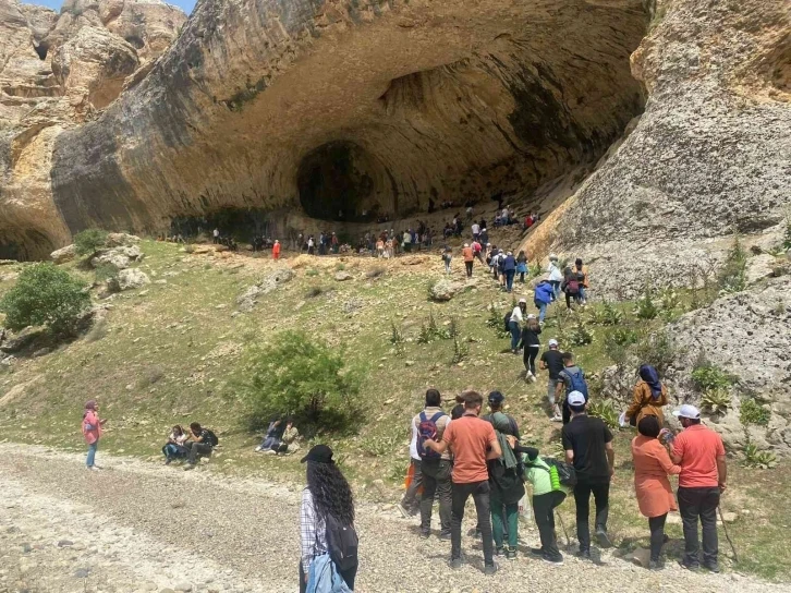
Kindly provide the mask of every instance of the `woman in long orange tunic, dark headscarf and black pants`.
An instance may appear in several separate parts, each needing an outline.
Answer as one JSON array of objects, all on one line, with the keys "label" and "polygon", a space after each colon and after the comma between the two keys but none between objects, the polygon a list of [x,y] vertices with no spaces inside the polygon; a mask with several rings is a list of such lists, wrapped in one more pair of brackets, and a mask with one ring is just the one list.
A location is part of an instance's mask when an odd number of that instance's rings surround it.
[{"label": "woman in long orange tunic, dark headscarf and black pants", "polygon": [[665,543],[665,521],[668,512],[677,510],[668,474],[681,472],[670,460],[667,449],[659,443],[661,425],[654,415],[646,415],[637,423],[640,435],[632,439],[634,463],[634,491],[643,517],[648,518],[650,531],[650,558],[648,568],[660,568],[659,555]]}]

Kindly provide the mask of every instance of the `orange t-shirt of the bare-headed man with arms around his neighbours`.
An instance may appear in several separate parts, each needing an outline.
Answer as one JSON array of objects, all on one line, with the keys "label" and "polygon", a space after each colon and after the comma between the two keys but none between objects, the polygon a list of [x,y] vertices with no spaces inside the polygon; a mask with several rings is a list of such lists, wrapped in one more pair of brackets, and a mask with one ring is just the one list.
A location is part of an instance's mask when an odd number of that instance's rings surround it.
[{"label": "orange t-shirt of the bare-headed man with arms around his neighbours", "polygon": [[491,423],[465,414],[448,424],[442,440],[453,452],[453,483],[473,484],[489,479],[486,453],[491,443],[497,441]]}]

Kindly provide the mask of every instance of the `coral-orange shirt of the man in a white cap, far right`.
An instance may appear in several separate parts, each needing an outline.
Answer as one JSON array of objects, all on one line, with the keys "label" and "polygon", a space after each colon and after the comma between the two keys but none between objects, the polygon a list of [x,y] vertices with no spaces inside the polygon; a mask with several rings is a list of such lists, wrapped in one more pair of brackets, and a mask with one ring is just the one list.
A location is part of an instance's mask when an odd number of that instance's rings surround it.
[{"label": "coral-orange shirt of the man in a white cap, far right", "polygon": [[719,485],[717,458],[725,456],[720,436],[703,424],[693,424],[676,437],[673,456],[681,457],[679,486],[710,488]]}]

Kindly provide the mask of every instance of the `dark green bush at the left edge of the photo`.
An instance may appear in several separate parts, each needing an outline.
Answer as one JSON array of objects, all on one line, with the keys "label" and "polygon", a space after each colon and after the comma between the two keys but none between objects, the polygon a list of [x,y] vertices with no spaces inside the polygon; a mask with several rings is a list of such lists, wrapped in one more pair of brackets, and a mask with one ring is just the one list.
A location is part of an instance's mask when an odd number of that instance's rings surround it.
[{"label": "dark green bush at the left edge of the photo", "polygon": [[80,314],[89,306],[86,286],[50,263],[23,269],[16,285],[0,301],[9,329],[44,325],[60,337],[75,334]]}]

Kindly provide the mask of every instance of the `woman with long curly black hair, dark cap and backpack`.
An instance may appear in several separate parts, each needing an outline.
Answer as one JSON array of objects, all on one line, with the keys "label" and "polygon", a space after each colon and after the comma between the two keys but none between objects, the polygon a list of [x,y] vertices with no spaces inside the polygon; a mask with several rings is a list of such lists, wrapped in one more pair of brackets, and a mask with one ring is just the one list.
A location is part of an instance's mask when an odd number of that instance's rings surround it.
[{"label": "woman with long curly black hair, dark cap and backpack", "polygon": [[302,462],[307,463],[307,486],[300,506],[300,593],[354,591],[358,560],[352,488],[327,445],[313,447]]}]

